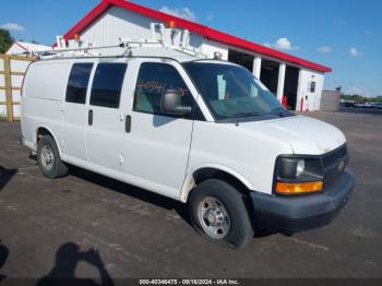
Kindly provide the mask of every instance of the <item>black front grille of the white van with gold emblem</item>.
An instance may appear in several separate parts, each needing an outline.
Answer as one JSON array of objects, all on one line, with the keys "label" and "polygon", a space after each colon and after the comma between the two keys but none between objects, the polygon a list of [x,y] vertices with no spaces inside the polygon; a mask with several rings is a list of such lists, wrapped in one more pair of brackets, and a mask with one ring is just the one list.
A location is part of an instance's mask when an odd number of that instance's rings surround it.
[{"label": "black front grille of the white van with gold emblem", "polygon": [[322,164],[325,188],[331,187],[338,180],[347,166],[348,157],[346,144],[323,155]]}]

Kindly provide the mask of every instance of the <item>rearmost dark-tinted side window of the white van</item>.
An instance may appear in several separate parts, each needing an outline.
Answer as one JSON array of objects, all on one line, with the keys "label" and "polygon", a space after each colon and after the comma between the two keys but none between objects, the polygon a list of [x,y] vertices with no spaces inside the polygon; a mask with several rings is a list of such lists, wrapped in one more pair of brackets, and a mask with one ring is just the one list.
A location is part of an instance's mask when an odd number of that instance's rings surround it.
[{"label": "rearmost dark-tinted side window of the white van", "polygon": [[70,71],[67,103],[85,104],[88,79],[91,78],[93,63],[74,63]]}]

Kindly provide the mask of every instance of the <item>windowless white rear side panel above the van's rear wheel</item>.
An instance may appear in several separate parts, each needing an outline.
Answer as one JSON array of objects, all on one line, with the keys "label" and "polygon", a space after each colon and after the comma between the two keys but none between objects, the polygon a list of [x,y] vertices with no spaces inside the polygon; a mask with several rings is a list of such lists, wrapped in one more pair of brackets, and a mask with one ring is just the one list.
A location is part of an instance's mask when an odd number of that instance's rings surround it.
[{"label": "windowless white rear side panel above the van's rear wheel", "polygon": [[41,61],[27,70],[21,99],[24,143],[37,150],[37,129],[46,128],[61,147],[61,105],[64,100],[70,62]]}]

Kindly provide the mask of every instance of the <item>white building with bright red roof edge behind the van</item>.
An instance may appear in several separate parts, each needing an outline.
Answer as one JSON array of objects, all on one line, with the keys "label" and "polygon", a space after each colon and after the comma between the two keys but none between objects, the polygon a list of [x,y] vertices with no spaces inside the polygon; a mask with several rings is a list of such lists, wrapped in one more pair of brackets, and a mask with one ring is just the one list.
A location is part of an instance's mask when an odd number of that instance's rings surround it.
[{"label": "white building with bright red roof edge behind the van", "polygon": [[131,1],[103,0],[63,38],[117,45],[118,38],[152,38],[152,23],[188,29],[192,47],[211,57],[220,52],[248,68],[288,108],[320,109],[324,74],[331,68]]}]

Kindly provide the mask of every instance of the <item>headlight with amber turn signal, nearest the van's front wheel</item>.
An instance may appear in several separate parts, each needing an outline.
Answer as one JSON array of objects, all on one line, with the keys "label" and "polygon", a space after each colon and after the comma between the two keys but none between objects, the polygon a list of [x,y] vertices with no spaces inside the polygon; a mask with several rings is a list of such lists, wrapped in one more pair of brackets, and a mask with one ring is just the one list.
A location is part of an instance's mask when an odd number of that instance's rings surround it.
[{"label": "headlight with amber turn signal, nearest the van's front wheel", "polygon": [[301,194],[322,191],[323,171],[320,158],[280,156],[276,164],[276,193]]}]

